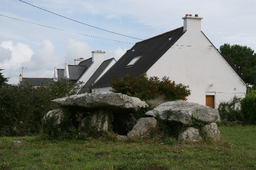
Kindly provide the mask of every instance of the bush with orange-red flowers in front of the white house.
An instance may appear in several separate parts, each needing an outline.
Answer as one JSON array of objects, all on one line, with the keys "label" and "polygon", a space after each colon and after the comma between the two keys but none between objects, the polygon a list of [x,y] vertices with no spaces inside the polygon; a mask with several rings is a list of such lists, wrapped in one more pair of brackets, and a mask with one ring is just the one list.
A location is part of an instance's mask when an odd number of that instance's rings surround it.
[{"label": "bush with orange-red flowers in front of the white house", "polygon": [[122,79],[114,77],[111,85],[111,91],[114,93],[138,97],[145,101],[156,99],[162,94],[165,96],[164,100],[187,100],[186,97],[191,94],[189,86],[175,84],[175,81],[169,80],[169,77],[160,80],[158,77],[148,77],[146,74],[139,77],[124,75]]}]

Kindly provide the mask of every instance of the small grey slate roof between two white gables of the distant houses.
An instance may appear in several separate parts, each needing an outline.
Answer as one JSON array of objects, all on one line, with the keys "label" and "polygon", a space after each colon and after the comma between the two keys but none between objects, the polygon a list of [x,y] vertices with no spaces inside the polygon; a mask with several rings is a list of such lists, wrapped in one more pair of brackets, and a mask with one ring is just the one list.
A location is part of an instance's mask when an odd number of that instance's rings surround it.
[{"label": "small grey slate roof between two white gables of the distant houses", "polygon": [[69,79],[78,80],[87,68],[81,65],[68,65]]}]

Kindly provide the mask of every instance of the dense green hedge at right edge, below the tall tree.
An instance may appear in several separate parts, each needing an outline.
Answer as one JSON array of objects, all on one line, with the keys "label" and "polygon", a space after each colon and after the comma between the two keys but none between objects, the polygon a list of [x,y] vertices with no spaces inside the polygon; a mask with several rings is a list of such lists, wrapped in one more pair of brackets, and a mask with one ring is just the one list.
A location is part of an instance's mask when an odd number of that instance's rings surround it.
[{"label": "dense green hedge at right edge, below the tall tree", "polygon": [[241,113],[249,124],[256,124],[256,90],[249,91],[244,99],[241,99]]}]

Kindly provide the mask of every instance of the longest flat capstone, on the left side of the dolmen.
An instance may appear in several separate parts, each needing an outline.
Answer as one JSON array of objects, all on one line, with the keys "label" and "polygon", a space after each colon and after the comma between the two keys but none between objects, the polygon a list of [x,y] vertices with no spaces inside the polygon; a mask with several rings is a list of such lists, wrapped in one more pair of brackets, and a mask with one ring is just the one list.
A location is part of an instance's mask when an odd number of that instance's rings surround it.
[{"label": "longest flat capstone, on the left side of the dolmen", "polygon": [[94,92],[90,94],[78,94],[61,99],[52,100],[53,106],[78,106],[80,108],[111,108],[113,111],[137,112],[141,108],[147,108],[146,102],[137,97],[113,92]]}]

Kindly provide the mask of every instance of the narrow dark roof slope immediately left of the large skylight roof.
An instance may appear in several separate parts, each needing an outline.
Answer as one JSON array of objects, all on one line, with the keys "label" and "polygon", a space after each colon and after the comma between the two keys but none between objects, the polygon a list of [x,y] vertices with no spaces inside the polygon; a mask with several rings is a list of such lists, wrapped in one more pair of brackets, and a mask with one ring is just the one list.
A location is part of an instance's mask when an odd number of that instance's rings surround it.
[{"label": "narrow dark roof slope immediately left of the large skylight roof", "polygon": [[99,66],[99,68],[94,72],[94,74],[90,77],[90,79],[85,83],[84,88],[82,88],[82,93],[87,91],[87,88],[92,85],[95,80],[102,74],[102,72],[107,68],[111,61],[115,60],[114,58],[107,59]]}]

